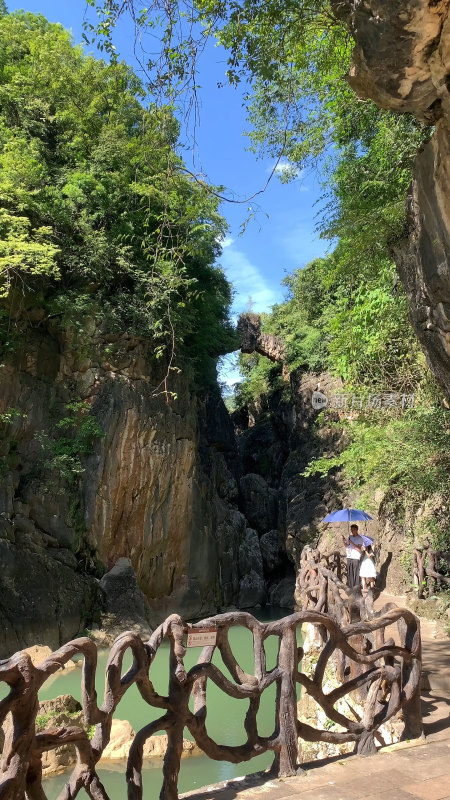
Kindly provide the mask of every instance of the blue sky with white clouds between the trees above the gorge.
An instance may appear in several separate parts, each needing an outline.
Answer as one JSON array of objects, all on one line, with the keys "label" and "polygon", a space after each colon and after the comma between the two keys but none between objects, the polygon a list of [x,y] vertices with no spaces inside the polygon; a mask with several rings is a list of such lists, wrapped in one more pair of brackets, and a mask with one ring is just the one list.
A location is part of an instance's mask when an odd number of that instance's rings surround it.
[{"label": "blue sky with white clouds between the trees above the gorge", "polygon": [[[7,0],[7,6],[9,11],[24,8],[42,13],[52,22],[71,29],[75,41],[81,41],[85,0]],[[115,42],[120,56],[139,72],[132,33],[131,23],[124,21]],[[192,137],[182,131],[183,157],[189,169],[202,172],[214,184],[225,185],[236,199],[245,199],[263,188],[275,160],[257,159],[246,150],[249,140],[244,130],[248,125],[241,91],[229,86],[217,88],[217,83],[225,80],[225,61],[226,54],[221,48],[208,47],[203,55],[198,81],[201,89],[197,146],[194,152]],[[240,230],[249,215],[248,205],[222,205],[221,213],[230,229],[220,263],[234,286],[235,315],[247,308],[249,302],[256,312],[270,310],[283,299],[281,281],[285,275],[326,252],[327,243],[314,231],[320,194],[314,173],[301,174],[289,184],[282,184],[274,176],[264,194],[252,201],[259,210],[243,235]],[[228,359],[222,368],[225,382],[236,379],[231,361]]]}]

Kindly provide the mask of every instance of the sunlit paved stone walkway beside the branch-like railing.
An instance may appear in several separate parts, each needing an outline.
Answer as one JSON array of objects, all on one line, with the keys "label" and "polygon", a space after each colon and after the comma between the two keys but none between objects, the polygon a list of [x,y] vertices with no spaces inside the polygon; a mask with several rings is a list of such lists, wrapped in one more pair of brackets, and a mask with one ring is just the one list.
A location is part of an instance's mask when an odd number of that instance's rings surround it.
[{"label": "sunlit paved stone walkway beside the branch-like railing", "polygon": [[[377,601],[404,605],[387,595]],[[421,625],[429,691],[422,692],[424,739],[384,747],[375,756],[340,756],[304,764],[285,780],[259,774],[189,792],[189,800],[450,800],[450,640]]]}]

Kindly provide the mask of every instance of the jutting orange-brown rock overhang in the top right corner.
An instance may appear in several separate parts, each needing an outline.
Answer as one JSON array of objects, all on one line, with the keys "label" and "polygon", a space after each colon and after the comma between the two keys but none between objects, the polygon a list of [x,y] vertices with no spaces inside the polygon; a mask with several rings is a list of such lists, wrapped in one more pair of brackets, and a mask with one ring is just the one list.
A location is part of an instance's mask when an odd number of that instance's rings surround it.
[{"label": "jutting orange-brown rock overhang in the top right corner", "polygon": [[449,0],[333,0],[355,40],[348,82],[360,97],[434,124],[449,105]]}]

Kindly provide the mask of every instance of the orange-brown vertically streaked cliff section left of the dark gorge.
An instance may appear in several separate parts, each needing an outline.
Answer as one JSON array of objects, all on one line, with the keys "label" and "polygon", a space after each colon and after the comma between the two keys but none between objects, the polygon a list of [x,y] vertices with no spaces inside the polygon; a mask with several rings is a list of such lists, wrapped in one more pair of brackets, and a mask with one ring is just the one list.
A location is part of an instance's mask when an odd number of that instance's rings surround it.
[{"label": "orange-brown vertically streaked cliff section left of the dark gorge", "polygon": [[90,541],[107,566],[131,560],[155,621],[233,602],[239,576],[219,575],[219,560],[245,531],[228,502],[237,494],[224,455],[232,454],[233,432],[220,452],[199,423],[210,403],[189,391],[186,378],[176,391],[167,400],[146,376],[103,376],[91,399],[105,437],[86,462],[82,487]]}]

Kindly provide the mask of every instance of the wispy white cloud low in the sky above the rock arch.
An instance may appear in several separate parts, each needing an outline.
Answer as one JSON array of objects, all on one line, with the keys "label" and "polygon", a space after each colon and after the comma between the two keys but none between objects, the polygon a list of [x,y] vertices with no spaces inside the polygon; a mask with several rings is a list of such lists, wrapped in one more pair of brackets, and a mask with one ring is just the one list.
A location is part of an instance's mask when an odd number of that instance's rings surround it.
[{"label": "wispy white cloud low in the sky above the rock arch", "polygon": [[249,301],[255,313],[269,311],[274,303],[280,302],[281,287],[273,289],[242,251],[228,247],[222,254],[221,265],[235,291],[234,314],[244,311]]}]

